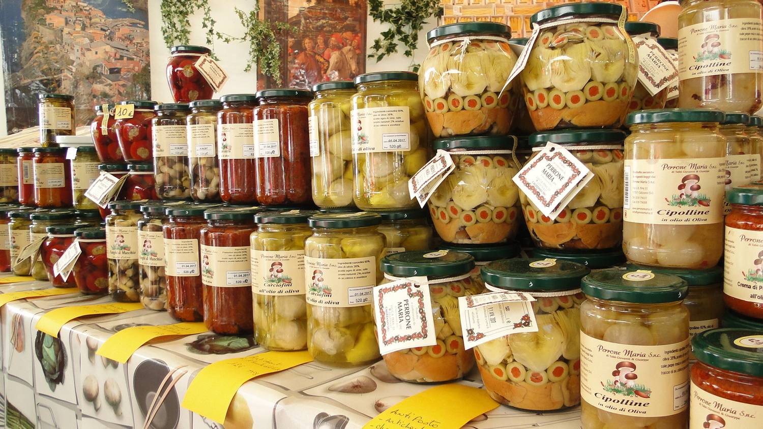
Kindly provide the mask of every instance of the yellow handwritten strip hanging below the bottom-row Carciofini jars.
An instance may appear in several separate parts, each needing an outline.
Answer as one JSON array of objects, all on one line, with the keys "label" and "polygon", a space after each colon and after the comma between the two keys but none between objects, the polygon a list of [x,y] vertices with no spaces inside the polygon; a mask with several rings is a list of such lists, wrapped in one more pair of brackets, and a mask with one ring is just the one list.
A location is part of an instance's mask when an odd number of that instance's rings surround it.
[{"label": "yellow handwritten strip hanging below the bottom-row Carciofini jars", "polygon": [[313,357],[307,351],[266,351],[212,363],[199,371],[188,386],[182,406],[222,424],[233,395],[243,383],[311,360]]}]

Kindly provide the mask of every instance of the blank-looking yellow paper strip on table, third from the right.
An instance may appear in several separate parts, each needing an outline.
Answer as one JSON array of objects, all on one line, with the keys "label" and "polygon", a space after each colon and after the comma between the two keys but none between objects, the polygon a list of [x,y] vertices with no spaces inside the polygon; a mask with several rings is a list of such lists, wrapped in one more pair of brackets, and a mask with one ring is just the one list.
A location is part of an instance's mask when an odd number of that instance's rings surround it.
[{"label": "blank-looking yellow paper strip on table, third from the right", "polygon": [[173,325],[133,326],[111,335],[95,354],[126,363],[143,344],[161,337],[194,335],[207,331],[202,322],[182,322]]}]

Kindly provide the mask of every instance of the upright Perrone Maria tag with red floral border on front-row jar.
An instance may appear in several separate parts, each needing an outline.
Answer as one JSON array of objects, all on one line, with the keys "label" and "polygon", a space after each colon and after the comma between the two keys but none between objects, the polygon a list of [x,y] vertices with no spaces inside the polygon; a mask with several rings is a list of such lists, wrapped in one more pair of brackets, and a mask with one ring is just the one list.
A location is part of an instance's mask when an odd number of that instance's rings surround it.
[{"label": "upright Perrone Maria tag with red floral border on front-row jar", "polygon": [[381,284],[373,299],[381,354],[437,344],[427,277]]}]

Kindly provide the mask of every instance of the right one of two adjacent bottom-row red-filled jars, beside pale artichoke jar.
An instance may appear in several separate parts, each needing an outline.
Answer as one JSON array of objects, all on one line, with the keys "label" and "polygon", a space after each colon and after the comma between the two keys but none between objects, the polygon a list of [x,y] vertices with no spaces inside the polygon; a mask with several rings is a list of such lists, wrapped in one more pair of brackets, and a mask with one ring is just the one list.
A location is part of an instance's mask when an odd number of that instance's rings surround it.
[{"label": "right one of two adjacent bottom-row red-filled jars, beside pale artichoke jar", "polygon": [[216,334],[254,330],[250,234],[256,207],[219,207],[204,212],[199,231],[204,325]]}]

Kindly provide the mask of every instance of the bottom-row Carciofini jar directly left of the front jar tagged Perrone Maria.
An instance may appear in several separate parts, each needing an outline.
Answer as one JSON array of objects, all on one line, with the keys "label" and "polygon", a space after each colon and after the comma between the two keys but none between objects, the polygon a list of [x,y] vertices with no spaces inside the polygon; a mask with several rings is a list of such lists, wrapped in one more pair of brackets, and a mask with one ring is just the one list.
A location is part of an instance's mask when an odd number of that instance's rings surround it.
[{"label": "bottom-row Carciofini jar directly left of the front jar tagged Perrone Maria", "polygon": [[[381,279],[385,236],[375,213],[311,216],[304,242],[307,350],[315,360],[355,366],[379,358],[372,288]],[[350,295],[349,290],[353,290]]]}]

